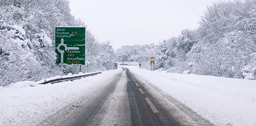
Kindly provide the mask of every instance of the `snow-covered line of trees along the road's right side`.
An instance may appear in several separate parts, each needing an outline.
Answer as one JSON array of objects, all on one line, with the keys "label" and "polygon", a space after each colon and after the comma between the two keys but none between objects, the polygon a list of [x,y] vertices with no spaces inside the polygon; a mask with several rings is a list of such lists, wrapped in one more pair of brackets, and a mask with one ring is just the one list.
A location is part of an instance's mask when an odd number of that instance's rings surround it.
[{"label": "snow-covered line of trees along the road's right side", "polygon": [[213,3],[197,29],[185,29],[158,45],[123,46],[117,51],[118,61],[148,65],[154,55],[156,68],[169,72],[255,80],[255,6],[255,0]]}]

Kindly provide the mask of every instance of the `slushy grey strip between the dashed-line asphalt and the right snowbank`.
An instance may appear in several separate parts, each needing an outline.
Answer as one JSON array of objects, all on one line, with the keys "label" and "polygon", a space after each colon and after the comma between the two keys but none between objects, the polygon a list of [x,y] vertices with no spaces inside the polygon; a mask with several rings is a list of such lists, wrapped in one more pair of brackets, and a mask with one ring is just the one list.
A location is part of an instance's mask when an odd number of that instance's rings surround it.
[{"label": "slushy grey strip between the dashed-line asphalt and the right snowbank", "polygon": [[154,86],[149,81],[141,78],[139,75],[130,71],[135,79],[140,83],[143,83],[143,87],[158,100],[159,104],[169,110],[170,114],[181,125],[213,125],[209,121],[205,120],[202,116],[180,103],[177,99],[164,93],[161,89]]}]

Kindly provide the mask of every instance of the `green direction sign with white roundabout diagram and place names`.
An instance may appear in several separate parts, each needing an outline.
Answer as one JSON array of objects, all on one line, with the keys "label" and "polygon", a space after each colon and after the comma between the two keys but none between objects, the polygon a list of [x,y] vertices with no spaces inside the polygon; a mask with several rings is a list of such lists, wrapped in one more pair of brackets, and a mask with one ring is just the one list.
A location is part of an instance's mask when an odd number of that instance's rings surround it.
[{"label": "green direction sign with white roundabout diagram and place names", "polygon": [[55,28],[56,64],[85,64],[85,28]]}]

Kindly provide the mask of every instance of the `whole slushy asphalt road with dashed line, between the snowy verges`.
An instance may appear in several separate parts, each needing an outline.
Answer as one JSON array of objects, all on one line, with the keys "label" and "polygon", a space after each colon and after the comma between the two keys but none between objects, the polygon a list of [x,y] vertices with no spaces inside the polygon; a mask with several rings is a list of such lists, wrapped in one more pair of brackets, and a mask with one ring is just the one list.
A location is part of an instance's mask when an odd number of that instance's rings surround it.
[{"label": "whole slushy asphalt road with dashed line, between the snowy verges", "polygon": [[191,120],[181,124],[186,117],[175,117],[175,109],[159,102],[145,85],[148,84],[123,68],[102,88],[79,98],[38,125],[197,125]]}]

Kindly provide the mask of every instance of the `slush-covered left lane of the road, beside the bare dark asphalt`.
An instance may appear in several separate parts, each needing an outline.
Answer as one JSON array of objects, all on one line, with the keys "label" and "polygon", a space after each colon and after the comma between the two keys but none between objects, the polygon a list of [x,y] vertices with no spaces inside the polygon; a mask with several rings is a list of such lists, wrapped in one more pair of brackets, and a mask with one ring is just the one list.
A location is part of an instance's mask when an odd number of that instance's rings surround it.
[{"label": "slush-covered left lane of the road, beside the bare dark asphalt", "polygon": [[[131,120],[125,72],[110,78],[92,94],[84,95],[38,125],[125,125]],[[84,83],[86,84],[86,83]],[[121,120],[123,122],[121,122]]]}]

